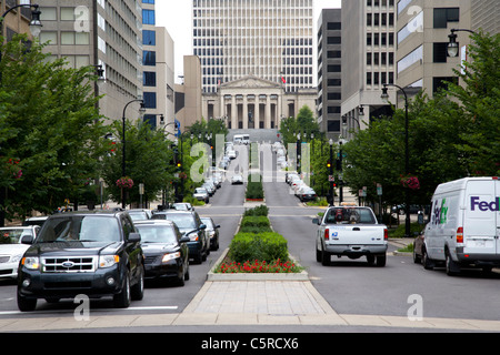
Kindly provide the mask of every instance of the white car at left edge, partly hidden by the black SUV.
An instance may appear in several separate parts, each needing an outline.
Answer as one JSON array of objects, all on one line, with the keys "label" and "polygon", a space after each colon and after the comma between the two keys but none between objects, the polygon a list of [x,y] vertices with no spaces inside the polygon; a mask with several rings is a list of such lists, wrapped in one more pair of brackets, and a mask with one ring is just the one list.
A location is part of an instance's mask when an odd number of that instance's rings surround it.
[{"label": "white car at left edge, partly hidden by the black SUV", "polygon": [[37,239],[39,225],[0,227],[0,280],[18,277],[18,266],[29,245],[24,239]]}]

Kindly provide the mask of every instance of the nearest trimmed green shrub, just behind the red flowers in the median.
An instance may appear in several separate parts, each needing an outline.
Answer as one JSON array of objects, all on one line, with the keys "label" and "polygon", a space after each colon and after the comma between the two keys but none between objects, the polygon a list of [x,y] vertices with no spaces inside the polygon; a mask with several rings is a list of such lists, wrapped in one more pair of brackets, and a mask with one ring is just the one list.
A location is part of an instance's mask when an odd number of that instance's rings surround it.
[{"label": "nearest trimmed green shrub, just behind the red flowers in the median", "polygon": [[246,261],[288,260],[287,240],[278,233],[238,233],[234,235],[229,251],[232,261],[244,263]]}]

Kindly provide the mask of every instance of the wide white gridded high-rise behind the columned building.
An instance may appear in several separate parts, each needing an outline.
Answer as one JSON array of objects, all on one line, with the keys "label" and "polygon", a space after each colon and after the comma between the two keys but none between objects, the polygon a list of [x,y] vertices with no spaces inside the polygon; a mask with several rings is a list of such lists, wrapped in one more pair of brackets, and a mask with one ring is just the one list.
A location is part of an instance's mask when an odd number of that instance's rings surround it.
[{"label": "wide white gridded high-rise behind the columned building", "polygon": [[192,3],[203,92],[248,75],[283,83],[287,92],[312,87],[312,0]]}]

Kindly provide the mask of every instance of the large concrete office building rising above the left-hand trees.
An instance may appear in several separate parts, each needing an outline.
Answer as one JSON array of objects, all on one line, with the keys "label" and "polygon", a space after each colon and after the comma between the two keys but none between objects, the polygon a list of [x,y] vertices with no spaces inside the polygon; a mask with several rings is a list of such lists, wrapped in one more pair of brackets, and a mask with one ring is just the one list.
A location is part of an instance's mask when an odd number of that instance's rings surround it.
[{"label": "large concrete office building rising above the left-hand trees", "polygon": [[[141,2],[44,0],[40,10],[40,42],[49,42],[46,50],[66,58],[72,68],[102,65],[101,113],[121,119],[127,103],[142,97]],[[131,104],[126,115],[138,119],[139,103]]]}]

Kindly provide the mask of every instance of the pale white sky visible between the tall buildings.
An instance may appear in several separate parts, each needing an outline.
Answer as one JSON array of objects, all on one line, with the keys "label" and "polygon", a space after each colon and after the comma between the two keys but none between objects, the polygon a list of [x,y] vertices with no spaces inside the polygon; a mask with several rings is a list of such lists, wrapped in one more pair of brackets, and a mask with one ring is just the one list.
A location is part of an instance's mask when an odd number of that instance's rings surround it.
[{"label": "pale white sky visible between the tall buildings", "polygon": [[[284,0],[286,1],[286,0]],[[321,9],[340,8],[341,0],[313,0],[314,33]],[[156,0],[157,26],[164,27],[174,42],[176,82],[183,74],[183,57],[192,54],[191,0]]]}]

